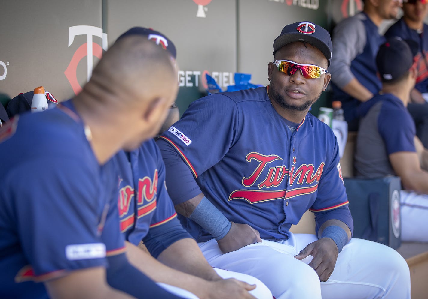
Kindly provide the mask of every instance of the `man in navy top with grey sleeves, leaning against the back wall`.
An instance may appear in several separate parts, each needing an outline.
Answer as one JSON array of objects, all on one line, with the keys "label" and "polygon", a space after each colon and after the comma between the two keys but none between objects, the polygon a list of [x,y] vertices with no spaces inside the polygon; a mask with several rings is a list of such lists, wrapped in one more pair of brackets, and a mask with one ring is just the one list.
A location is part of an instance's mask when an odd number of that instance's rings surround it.
[{"label": "man in navy top with grey sleeves, leaning against the back wall", "polygon": [[375,57],[385,38],[379,34],[383,20],[397,17],[401,0],[363,0],[362,12],[339,22],[333,30],[334,55],[329,72],[332,101],[341,101],[349,131],[357,131],[356,108],[380,90]]}]

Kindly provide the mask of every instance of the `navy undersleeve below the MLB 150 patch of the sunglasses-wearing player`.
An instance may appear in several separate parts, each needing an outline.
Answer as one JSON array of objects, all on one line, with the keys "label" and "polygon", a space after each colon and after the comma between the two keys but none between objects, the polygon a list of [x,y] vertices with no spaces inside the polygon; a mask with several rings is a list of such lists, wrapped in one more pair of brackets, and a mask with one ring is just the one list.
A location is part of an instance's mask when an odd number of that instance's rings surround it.
[{"label": "navy undersleeve below the MLB 150 patch of the sunglasses-wearing player", "polygon": [[173,146],[163,140],[156,141],[166,168],[165,183],[174,205],[202,193],[187,164]]}]

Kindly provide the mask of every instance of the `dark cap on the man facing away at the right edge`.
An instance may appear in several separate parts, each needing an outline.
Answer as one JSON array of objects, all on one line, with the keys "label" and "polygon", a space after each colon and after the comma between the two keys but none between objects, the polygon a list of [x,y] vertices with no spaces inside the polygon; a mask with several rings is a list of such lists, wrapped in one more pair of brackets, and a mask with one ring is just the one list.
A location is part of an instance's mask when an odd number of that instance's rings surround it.
[{"label": "dark cap on the man facing away at the right edge", "polygon": [[412,67],[414,54],[406,41],[401,38],[389,38],[379,47],[376,66],[384,82],[393,82],[403,76]]}]

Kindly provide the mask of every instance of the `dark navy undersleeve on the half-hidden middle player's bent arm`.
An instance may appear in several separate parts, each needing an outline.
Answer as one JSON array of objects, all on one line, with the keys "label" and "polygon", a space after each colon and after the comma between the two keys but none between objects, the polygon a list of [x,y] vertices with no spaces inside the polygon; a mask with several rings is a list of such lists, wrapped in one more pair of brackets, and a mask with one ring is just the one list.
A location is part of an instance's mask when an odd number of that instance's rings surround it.
[{"label": "dark navy undersleeve on the half-hidden middle player's bent arm", "polygon": [[143,242],[150,254],[158,258],[160,253],[172,243],[185,238],[193,239],[175,217],[160,226],[151,227],[143,238]]}]

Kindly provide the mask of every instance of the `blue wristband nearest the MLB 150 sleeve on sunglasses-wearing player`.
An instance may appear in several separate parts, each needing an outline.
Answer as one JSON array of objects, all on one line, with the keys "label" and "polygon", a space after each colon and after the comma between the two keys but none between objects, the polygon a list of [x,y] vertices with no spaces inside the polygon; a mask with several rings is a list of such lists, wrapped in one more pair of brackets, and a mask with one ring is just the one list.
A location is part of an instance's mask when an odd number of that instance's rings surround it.
[{"label": "blue wristband nearest the MLB 150 sleeve on sunglasses-wearing player", "polygon": [[222,239],[229,232],[232,223],[220,212],[205,196],[199,205],[193,210],[189,218],[207,232],[217,241]]}]

